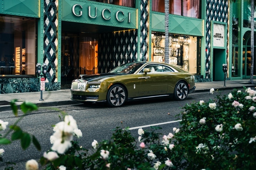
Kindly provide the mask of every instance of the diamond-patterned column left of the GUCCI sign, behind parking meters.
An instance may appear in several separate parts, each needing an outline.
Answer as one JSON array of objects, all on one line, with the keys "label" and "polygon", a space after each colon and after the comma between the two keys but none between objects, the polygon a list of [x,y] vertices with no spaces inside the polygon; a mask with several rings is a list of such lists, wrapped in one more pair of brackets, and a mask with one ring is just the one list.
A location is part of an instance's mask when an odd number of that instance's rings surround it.
[{"label": "diamond-patterned column left of the GUCCI sign, behind parking meters", "polygon": [[44,0],[44,63],[47,64],[45,82],[57,82],[57,11],[58,0]]}]

